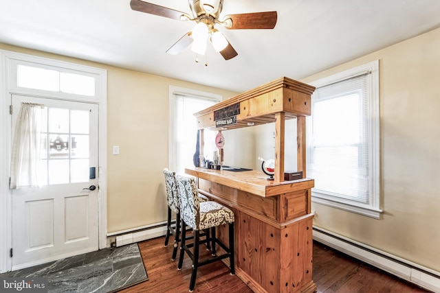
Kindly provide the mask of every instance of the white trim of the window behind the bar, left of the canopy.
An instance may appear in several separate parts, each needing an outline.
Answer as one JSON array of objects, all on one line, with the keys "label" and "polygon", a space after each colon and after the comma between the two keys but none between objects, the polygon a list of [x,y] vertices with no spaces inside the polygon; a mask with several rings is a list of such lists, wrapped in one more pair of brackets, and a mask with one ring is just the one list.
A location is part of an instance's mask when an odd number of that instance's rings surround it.
[{"label": "white trim of the window behind the bar, left of the canopy", "polygon": [[222,95],[208,93],[205,91],[197,91],[186,89],[179,86],[169,86],[169,103],[168,103],[168,168],[176,169],[176,134],[175,134],[175,117],[176,117],[176,100],[175,95],[188,95],[191,97],[201,97],[203,99],[212,99],[216,102],[223,100]]}]

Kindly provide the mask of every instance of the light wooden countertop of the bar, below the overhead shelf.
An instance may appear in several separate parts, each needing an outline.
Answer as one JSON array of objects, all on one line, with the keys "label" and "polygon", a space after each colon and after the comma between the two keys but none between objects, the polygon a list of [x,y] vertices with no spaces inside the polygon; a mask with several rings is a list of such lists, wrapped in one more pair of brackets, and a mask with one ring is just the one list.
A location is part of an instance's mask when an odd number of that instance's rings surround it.
[{"label": "light wooden countertop of the bar, below the overhead shelf", "polygon": [[228,170],[206,169],[201,167],[186,168],[186,174],[214,183],[239,189],[262,197],[276,196],[287,192],[313,188],[315,180],[303,178],[292,181],[274,182],[267,180],[267,175],[256,170],[231,172]]}]

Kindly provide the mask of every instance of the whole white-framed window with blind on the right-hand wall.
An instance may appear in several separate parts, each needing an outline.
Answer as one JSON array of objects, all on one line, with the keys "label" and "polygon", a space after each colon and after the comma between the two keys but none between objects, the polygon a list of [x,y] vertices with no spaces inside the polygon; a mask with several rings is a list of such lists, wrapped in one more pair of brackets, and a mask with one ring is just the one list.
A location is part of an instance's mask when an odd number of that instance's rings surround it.
[{"label": "whole white-framed window with blind on the right-hand wall", "polygon": [[312,201],[373,218],[380,213],[377,63],[316,82],[307,123]]}]

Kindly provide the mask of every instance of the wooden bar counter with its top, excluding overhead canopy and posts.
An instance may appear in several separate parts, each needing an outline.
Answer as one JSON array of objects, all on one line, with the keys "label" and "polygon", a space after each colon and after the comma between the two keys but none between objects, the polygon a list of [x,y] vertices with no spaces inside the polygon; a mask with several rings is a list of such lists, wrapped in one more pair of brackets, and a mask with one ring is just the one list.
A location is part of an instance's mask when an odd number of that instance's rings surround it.
[{"label": "wooden bar counter with its top, excluding overhead canopy and posts", "polygon": [[276,183],[263,172],[203,168],[186,173],[199,178],[201,194],[234,211],[236,274],[254,292],[316,291],[308,213],[313,179]]}]

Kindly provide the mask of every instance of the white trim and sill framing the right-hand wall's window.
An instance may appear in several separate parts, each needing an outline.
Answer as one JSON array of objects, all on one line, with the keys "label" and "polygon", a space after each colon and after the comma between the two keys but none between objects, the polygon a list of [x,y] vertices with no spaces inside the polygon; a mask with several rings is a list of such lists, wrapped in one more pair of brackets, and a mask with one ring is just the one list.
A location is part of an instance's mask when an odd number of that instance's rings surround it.
[{"label": "white trim and sill framing the right-hand wall's window", "polygon": [[[366,215],[371,218],[380,219],[382,209],[380,209],[380,90],[379,90],[379,60],[360,65],[358,67],[336,73],[314,82],[309,82],[312,86],[319,88],[328,84],[347,80],[364,73],[367,75],[369,86],[369,189],[370,204],[356,203],[350,200],[338,199],[332,200],[326,195],[318,193],[312,189],[311,202],[327,205],[344,211],[351,211],[360,215]],[[313,97],[312,97],[313,99]],[[311,141],[311,117],[307,117],[307,141]],[[307,148],[310,144],[307,143]],[[307,152],[309,154],[309,152]]]}]

